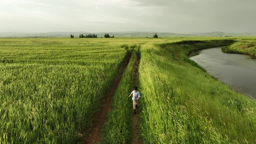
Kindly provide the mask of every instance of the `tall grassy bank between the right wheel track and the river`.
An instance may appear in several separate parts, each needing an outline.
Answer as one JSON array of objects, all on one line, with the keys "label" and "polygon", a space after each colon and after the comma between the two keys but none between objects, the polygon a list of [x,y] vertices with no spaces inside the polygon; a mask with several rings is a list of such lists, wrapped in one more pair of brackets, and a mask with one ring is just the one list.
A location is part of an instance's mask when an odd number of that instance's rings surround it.
[{"label": "tall grassy bank between the right wheel track and the river", "polygon": [[143,143],[255,143],[256,102],[187,59],[232,41],[142,45],[140,131]]}]

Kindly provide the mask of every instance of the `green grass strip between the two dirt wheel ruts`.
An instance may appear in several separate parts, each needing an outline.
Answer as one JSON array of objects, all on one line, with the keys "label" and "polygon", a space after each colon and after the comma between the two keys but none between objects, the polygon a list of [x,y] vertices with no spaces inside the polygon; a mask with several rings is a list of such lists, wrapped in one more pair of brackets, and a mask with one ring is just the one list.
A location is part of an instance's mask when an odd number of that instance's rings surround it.
[{"label": "green grass strip between the two dirt wheel ruts", "polygon": [[112,110],[107,115],[107,122],[103,129],[102,143],[120,144],[131,141],[132,100],[128,98],[128,95],[134,86],[135,66],[136,53],[132,51],[130,62],[123,73],[113,97]]}]

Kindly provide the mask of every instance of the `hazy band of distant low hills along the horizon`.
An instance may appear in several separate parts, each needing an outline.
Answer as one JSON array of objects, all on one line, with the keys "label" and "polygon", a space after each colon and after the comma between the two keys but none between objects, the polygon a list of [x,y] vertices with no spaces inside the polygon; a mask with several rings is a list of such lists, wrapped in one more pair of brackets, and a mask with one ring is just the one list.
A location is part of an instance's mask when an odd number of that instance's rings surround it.
[{"label": "hazy band of distant low hills along the horizon", "polygon": [[[95,33],[98,37],[103,37],[105,33],[115,37],[152,37],[155,32],[138,32],[138,31],[126,31],[126,32],[100,32]],[[11,32],[1,33],[0,37],[69,37],[70,35],[78,37],[80,34],[88,35],[89,32],[44,32],[44,33],[22,33]],[[93,33],[91,33],[93,34]],[[159,37],[191,37],[191,36],[256,36],[256,33],[225,33],[225,32],[208,32],[208,33],[191,33],[191,34],[179,34],[170,32],[157,32]]]}]

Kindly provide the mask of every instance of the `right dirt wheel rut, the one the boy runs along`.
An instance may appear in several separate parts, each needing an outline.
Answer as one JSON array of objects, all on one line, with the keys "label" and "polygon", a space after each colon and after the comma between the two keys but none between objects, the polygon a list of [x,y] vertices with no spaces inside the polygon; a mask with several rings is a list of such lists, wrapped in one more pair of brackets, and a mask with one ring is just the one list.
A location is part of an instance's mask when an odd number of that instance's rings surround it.
[{"label": "right dirt wheel rut, the one the boy runs along", "polygon": [[[135,85],[138,85],[139,64],[140,64],[140,58],[137,56],[135,81],[134,81]],[[138,106],[138,108],[139,108],[139,106]],[[141,141],[139,140],[139,117],[138,117],[138,112],[136,114],[133,113],[133,115],[132,115],[132,137],[133,137],[132,144],[141,144]]]}]

